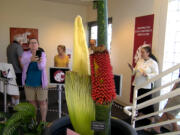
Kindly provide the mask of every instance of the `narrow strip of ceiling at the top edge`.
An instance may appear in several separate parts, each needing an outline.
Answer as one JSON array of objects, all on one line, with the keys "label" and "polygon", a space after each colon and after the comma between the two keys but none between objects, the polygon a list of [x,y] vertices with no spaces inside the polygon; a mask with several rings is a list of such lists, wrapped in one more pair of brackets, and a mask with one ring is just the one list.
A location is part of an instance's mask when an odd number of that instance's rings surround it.
[{"label": "narrow strip of ceiling at the top edge", "polygon": [[93,0],[44,0],[44,1],[87,6],[87,5],[91,4]]}]

